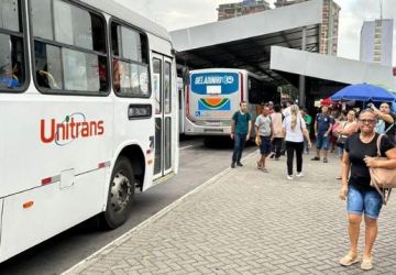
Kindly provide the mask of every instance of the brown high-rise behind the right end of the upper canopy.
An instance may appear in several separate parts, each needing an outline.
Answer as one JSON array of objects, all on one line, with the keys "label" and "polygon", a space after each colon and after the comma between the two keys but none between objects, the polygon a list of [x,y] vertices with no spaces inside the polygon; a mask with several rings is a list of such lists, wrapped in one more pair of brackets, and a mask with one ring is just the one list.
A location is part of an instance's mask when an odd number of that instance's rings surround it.
[{"label": "brown high-rise behind the right end of the upper canopy", "polygon": [[[308,0],[276,0],[275,7],[280,8]],[[337,55],[339,14],[341,8],[333,0],[323,0],[322,23],[320,25],[319,53]]]}]

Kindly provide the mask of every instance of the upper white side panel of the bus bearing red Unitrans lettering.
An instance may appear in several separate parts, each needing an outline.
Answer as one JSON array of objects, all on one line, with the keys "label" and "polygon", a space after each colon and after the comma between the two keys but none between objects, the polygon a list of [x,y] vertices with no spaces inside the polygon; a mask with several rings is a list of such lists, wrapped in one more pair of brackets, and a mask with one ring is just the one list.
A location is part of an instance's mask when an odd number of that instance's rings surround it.
[{"label": "upper white side panel of the bus bearing red Unitrans lettering", "polygon": [[110,97],[1,96],[0,114],[14,119],[0,121],[6,130],[0,134],[0,197],[40,187],[65,170],[80,175],[111,161]]}]

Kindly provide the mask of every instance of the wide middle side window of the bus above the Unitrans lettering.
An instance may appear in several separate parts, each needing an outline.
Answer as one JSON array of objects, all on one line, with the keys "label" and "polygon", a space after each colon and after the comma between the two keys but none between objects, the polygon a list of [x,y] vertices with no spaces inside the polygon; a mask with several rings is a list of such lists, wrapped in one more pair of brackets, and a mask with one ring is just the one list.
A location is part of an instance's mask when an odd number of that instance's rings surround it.
[{"label": "wide middle side window of the bus above the Unitrans lettering", "polygon": [[84,95],[107,91],[103,18],[61,0],[32,0],[31,6],[38,88]]}]

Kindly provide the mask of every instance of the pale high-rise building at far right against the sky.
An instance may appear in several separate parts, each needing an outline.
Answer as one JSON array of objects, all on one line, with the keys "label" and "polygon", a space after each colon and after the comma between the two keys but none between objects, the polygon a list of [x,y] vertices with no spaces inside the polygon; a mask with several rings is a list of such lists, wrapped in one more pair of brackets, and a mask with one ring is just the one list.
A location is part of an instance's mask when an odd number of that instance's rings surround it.
[{"label": "pale high-rise building at far right against the sky", "polygon": [[393,20],[364,21],[361,30],[360,59],[392,66]]}]

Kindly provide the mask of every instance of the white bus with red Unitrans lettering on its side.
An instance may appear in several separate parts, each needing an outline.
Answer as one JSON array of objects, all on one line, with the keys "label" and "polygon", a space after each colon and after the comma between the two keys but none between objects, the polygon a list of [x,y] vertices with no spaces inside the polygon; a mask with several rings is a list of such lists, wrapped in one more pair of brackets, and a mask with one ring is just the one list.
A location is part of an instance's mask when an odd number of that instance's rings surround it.
[{"label": "white bus with red Unitrans lettering on its side", "polygon": [[165,29],[110,0],[0,0],[0,262],[177,172]]}]

